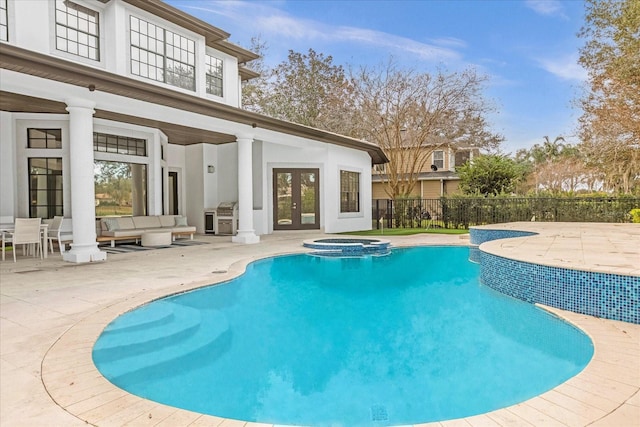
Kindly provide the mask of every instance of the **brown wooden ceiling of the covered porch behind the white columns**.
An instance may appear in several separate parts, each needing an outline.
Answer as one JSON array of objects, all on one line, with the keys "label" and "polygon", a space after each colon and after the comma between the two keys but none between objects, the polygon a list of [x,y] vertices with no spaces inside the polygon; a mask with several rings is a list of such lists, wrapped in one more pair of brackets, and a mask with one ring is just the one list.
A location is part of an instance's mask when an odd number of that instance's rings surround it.
[{"label": "brown wooden ceiling of the covered porch behind the white columns", "polygon": [[[67,106],[64,102],[0,91],[0,110],[2,111],[66,114],[66,107]],[[94,117],[160,129],[165,135],[167,135],[172,144],[178,145],[191,145],[203,142],[208,144],[227,144],[235,142],[236,140],[234,135],[181,126],[157,120],[149,120],[141,117],[114,113],[112,111],[96,109]]]}]

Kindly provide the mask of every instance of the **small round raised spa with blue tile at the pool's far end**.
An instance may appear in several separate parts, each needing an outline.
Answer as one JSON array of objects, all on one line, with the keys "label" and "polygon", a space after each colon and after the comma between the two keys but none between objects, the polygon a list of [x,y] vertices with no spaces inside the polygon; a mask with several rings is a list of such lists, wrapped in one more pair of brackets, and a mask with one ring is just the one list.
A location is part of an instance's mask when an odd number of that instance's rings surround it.
[{"label": "small round raised spa with blue tile at the pool's far end", "polygon": [[346,237],[305,240],[302,246],[325,256],[386,255],[391,250],[389,240]]}]

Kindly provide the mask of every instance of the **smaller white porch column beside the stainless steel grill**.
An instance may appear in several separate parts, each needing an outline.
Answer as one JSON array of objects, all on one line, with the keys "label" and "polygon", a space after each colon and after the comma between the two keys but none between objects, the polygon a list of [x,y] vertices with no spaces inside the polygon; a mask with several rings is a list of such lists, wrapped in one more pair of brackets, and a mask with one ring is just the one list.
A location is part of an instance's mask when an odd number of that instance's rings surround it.
[{"label": "smaller white porch column beside the stainless steel grill", "polygon": [[231,238],[234,243],[258,243],[253,228],[253,135],[238,134],[238,234]]}]

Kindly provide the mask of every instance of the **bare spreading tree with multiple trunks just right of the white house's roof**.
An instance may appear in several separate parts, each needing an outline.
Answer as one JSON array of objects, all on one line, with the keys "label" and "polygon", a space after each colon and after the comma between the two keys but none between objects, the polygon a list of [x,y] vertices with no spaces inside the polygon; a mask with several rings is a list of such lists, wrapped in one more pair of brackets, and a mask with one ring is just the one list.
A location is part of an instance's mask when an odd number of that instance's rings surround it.
[{"label": "bare spreading tree with multiple trunks just right of the white house's roof", "polygon": [[492,107],[482,97],[485,81],[472,69],[419,73],[393,60],[351,72],[357,108],[351,134],[379,145],[389,158],[389,197],[411,193],[434,150],[451,143],[495,148],[503,140],[488,130],[485,116]]}]

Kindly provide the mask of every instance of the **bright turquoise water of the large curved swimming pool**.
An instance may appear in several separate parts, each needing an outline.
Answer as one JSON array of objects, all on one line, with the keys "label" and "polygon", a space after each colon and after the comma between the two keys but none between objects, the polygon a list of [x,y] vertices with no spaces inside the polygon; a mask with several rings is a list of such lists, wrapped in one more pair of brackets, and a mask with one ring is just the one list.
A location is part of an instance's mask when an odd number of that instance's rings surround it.
[{"label": "bright turquoise water of the large curved swimming pool", "polygon": [[464,247],[269,258],[114,320],[94,362],[117,386],[227,418],[386,426],[479,414],[564,382],[590,340],[479,284]]}]

